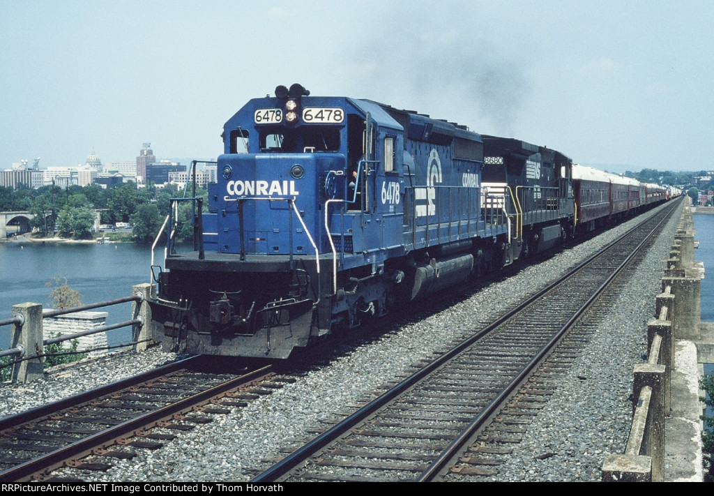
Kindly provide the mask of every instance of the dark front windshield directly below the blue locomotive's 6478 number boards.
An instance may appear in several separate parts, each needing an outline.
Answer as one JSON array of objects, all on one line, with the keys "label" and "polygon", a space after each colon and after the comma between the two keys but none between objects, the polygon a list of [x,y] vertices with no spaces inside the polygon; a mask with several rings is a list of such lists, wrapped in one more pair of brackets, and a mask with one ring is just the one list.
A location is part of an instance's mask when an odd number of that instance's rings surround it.
[{"label": "dark front windshield directly below the blue locomotive's 6478 number boards", "polygon": [[340,129],[333,126],[311,126],[298,129],[265,128],[261,129],[260,146],[261,152],[338,152],[340,150]]}]

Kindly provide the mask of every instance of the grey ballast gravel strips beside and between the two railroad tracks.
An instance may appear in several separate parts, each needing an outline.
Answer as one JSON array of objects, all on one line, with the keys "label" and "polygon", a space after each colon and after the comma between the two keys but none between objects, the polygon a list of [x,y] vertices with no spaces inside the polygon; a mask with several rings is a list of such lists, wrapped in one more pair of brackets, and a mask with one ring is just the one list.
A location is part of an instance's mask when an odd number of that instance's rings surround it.
[{"label": "grey ballast gravel strips beside and between the two railroad tracks", "polygon": [[[658,212],[658,210],[655,210]],[[630,275],[628,287],[548,403],[521,445],[501,467],[499,481],[597,481],[608,453],[623,452],[630,430],[632,371],[645,353],[647,321],[654,314],[659,278],[678,215]],[[378,339],[343,346],[334,359],[314,364],[271,395],[214,415],[213,422],[182,432],[156,451],[136,450],[132,460],[112,460],[106,472],[62,469],[55,475],[88,482],[247,481],[314,437],[316,431],[356,410],[381,385],[413,372],[412,364],[478,329],[506,307],[563,274],[625,232],[633,221],[565,249],[551,259],[489,284],[448,309],[415,317]],[[176,359],[159,349],[120,352],[64,367],[24,385],[0,385],[0,416],[59,400]],[[585,377],[585,380],[582,379]],[[553,454],[545,460],[538,455]]]}]

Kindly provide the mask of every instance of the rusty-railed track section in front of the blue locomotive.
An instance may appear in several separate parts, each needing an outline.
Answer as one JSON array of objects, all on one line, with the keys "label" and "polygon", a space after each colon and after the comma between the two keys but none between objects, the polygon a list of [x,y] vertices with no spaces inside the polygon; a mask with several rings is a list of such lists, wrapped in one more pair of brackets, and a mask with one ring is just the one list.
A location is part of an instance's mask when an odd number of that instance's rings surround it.
[{"label": "rusty-railed track section in front of the blue locomotive", "polygon": [[175,432],[211,422],[211,415],[246,406],[291,381],[271,365],[206,372],[205,358],[191,357],[5,417],[0,481],[51,480],[51,471],[63,466],[106,470],[112,458],[158,449]]}]

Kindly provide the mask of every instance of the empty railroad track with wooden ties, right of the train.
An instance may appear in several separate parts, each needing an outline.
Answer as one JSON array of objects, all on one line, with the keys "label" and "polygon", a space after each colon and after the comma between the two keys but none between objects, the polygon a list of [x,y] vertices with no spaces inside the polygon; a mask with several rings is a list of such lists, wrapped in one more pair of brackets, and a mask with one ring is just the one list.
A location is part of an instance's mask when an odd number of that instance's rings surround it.
[{"label": "empty railroad track with wooden ties, right of the train", "polygon": [[567,369],[587,340],[587,332],[568,337],[570,329],[580,319],[587,329],[583,316],[590,306],[675,208],[650,217],[253,482],[428,481],[451,470],[493,473],[509,442],[553,394],[555,372]]}]

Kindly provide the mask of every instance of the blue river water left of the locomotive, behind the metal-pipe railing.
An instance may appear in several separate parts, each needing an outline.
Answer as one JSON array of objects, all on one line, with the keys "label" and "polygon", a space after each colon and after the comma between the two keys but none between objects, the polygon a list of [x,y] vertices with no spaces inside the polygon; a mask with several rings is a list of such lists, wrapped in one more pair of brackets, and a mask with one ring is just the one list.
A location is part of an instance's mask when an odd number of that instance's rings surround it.
[{"label": "blue river water left of the locomotive, behind the metal-pipe railing", "polygon": [[[163,263],[163,249],[156,261]],[[12,317],[12,305],[23,302],[49,304],[54,277],[66,278],[82,294],[83,304],[131,296],[134,284],[149,282],[151,248],[126,244],[0,243],[0,319]],[[109,312],[106,323],[131,319],[131,303],[96,309]],[[107,333],[109,344],[131,340],[131,327]],[[0,327],[0,348],[9,347],[10,326]]]}]

